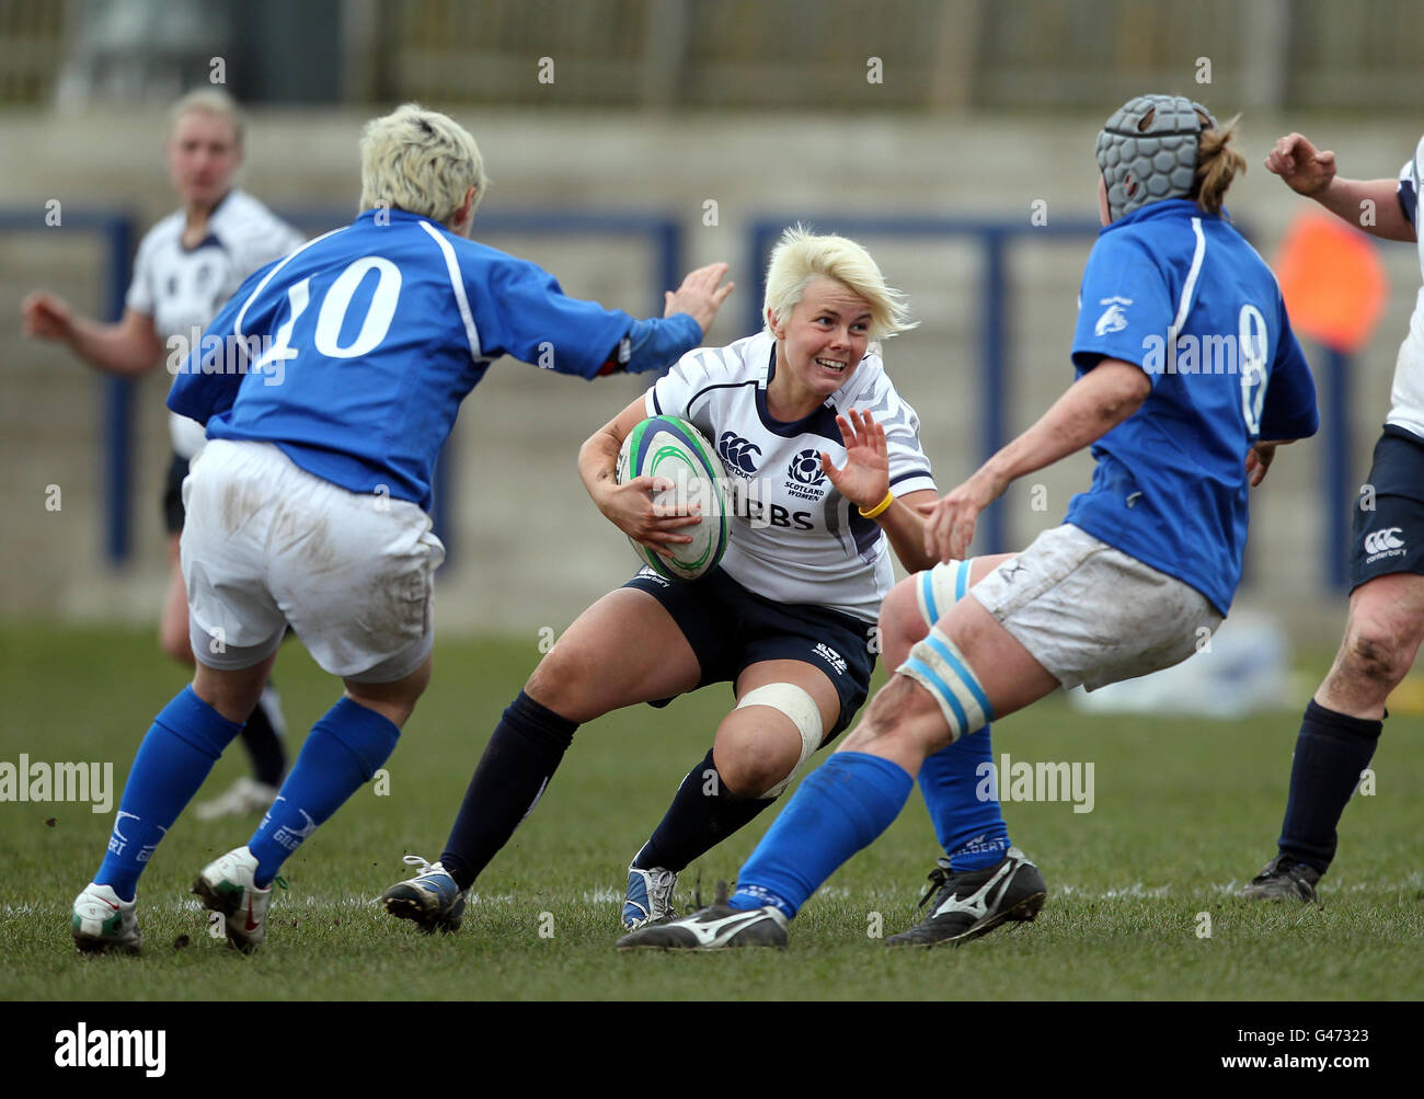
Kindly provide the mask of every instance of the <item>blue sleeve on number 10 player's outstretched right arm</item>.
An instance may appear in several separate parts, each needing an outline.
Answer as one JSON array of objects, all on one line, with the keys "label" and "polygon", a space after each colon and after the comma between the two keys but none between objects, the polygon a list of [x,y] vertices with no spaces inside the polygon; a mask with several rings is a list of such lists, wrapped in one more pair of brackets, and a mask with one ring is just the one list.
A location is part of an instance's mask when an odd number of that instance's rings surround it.
[{"label": "blue sleeve on number 10 player's outstretched right arm", "polygon": [[476,270],[461,265],[481,353],[511,354],[561,374],[597,377],[632,329],[632,317],[570,298],[543,268],[520,259]]}]

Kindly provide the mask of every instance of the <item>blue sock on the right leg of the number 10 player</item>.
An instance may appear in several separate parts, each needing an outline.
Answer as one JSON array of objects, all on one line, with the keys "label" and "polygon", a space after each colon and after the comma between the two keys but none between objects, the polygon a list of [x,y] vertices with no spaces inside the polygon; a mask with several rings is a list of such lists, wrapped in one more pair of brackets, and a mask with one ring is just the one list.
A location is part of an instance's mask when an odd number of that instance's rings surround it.
[{"label": "blue sock on the right leg of the number 10 player", "polygon": [[302,840],[345,804],[396,750],[400,729],[384,715],[343,698],[312,726],[296,766],[248,841],[255,881],[265,888]]}]

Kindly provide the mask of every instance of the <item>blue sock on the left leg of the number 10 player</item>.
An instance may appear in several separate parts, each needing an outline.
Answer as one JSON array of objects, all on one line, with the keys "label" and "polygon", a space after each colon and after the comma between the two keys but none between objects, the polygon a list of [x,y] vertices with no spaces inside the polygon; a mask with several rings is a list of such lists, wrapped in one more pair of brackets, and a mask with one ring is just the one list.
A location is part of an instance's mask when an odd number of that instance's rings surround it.
[{"label": "blue sock on the left leg of the number 10 player", "polygon": [[138,875],[184,806],[192,800],[222,750],[242,730],[199,699],[179,690],[154,717],[124,783],[108,854],[94,881],[134,900]]}]

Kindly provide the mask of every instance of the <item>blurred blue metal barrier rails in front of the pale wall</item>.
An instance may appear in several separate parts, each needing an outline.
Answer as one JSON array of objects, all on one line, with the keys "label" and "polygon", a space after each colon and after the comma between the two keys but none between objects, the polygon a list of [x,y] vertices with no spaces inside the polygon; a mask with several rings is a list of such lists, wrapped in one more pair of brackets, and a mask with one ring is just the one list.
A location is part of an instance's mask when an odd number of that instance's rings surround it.
[{"label": "blurred blue metal barrier rails in front of the pale wall", "polygon": [[[0,232],[37,232],[46,229],[43,214],[36,209],[0,211]],[[350,212],[330,208],[285,209],[288,221],[303,231],[323,232],[346,224]],[[1008,441],[1008,407],[1012,383],[1012,345],[1010,340],[1010,316],[1014,306],[1008,282],[1007,261],[1010,248],[1020,238],[1079,241],[1084,253],[1098,232],[1098,224],[1089,219],[1067,219],[1048,225],[1031,225],[1022,218],[985,219],[953,216],[884,215],[884,216],[827,216],[807,218],[805,214],[790,216],[762,216],[749,226],[746,270],[758,272],[756,292],[748,295],[746,330],[758,330],[762,320],[762,295],[765,290],[766,261],[782,231],[796,222],[810,222],[823,232],[839,232],[849,236],[913,238],[928,241],[970,241],[980,249],[983,300],[978,332],[978,372],[981,382],[980,453],[987,457]],[[631,236],[645,241],[652,249],[652,285],[655,300],[649,303],[652,315],[662,313],[662,290],[678,285],[682,275],[682,229],[671,218],[644,214],[568,214],[553,211],[511,211],[487,214],[478,219],[481,233],[523,233],[554,236]],[[97,233],[105,241],[105,295],[104,309],[111,319],[122,312],[124,293],[130,279],[130,265],[134,252],[134,221],[112,211],[66,212],[64,228]],[[1331,588],[1346,584],[1346,558],[1349,548],[1350,484],[1353,456],[1350,453],[1350,363],[1326,350],[1317,377],[1321,384],[1321,443],[1324,454],[1320,464],[1320,495],[1323,501],[1323,572]],[[132,498],[132,386],[120,379],[104,379],[104,446],[101,457],[101,480],[104,483],[104,552],[114,564],[127,559],[130,552],[130,511]],[[436,531],[449,544],[453,528],[451,491],[456,461],[453,447],[441,453],[436,471],[434,507]],[[944,485],[948,487],[948,485]],[[1002,552],[1011,547],[1005,530],[1004,508],[988,508],[980,522],[977,537],[978,552]],[[453,557],[451,548],[451,557]]]}]

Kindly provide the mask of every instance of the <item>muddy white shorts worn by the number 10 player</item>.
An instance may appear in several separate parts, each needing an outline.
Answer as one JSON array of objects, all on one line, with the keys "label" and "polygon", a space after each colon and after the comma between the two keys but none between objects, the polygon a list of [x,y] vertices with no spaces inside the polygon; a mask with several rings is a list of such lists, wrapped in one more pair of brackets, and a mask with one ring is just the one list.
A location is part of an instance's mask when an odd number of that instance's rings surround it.
[{"label": "muddy white shorts worn by the number 10 player", "polygon": [[417,504],[323,481],[271,443],[222,438],[194,460],[182,498],[188,632],[201,663],[251,668],[288,625],[345,679],[386,683],[430,655],[444,545]]}]

